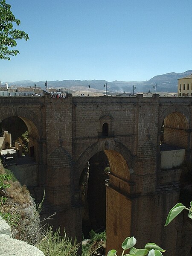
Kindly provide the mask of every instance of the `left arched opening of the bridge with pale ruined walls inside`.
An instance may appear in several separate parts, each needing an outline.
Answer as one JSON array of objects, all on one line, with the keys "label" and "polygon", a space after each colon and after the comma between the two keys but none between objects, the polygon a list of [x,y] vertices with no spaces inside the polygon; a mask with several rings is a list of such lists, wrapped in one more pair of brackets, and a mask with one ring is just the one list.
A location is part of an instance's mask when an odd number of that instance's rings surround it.
[{"label": "left arched opening of the bridge with pale ruined walls inside", "polygon": [[[3,119],[0,123],[0,134],[1,150],[14,154],[17,165],[35,163],[38,160],[38,130],[29,119],[20,116]],[[1,154],[7,152],[1,151]],[[9,158],[11,157],[7,159]],[[7,164],[9,165],[9,161]]]}]

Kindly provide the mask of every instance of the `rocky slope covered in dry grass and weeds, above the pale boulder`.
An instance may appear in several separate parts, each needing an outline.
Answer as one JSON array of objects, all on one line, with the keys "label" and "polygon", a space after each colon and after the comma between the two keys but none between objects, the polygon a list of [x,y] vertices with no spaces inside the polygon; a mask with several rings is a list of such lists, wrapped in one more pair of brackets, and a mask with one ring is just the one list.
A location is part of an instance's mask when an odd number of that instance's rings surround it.
[{"label": "rocky slope covered in dry grass and weeds, above the pale boulder", "polygon": [[15,239],[35,244],[41,239],[39,214],[35,202],[14,175],[0,163],[0,215],[12,230]]}]

